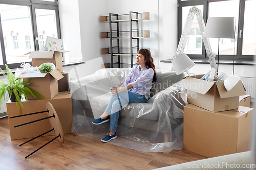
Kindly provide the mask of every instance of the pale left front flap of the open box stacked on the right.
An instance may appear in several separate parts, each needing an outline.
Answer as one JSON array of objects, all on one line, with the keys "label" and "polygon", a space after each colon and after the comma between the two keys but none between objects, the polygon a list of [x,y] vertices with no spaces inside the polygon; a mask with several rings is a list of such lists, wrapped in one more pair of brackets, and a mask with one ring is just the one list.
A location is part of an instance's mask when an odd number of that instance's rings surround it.
[{"label": "pale left front flap of the open box stacked on the right", "polygon": [[183,88],[200,94],[205,94],[215,84],[214,82],[208,82],[191,77],[186,77],[181,83]]}]

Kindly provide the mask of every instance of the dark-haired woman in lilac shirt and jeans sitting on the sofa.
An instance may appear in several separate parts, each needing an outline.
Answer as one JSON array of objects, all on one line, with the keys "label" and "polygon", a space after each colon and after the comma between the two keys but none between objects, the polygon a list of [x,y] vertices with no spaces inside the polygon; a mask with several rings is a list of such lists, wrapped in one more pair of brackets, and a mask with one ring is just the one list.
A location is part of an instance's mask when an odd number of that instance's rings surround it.
[{"label": "dark-haired woman in lilac shirt and jeans sitting on the sofa", "polygon": [[92,122],[94,125],[100,125],[111,119],[110,133],[101,139],[102,142],[116,138],[116,126],[121,106],[128,103],[143,103],[150,99],[152,82],[157,80],[154,59],[150,51],[141,49],[138,51],[136,61],[139,65],[133,67],[118,85],[112,86],[112,96],[108,106],[104,113]]}]

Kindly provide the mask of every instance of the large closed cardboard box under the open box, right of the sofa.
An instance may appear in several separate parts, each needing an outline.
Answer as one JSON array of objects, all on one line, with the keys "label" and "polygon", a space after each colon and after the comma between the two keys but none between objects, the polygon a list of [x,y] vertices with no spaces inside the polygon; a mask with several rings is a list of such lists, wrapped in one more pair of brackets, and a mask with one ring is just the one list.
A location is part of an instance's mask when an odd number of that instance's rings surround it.
[{"label": "large closed cardboard box under the open box, right of the sofa", "polygon": [[210,112],[184,107],[184,149],[208,158],[251,150],[253,109]]}]

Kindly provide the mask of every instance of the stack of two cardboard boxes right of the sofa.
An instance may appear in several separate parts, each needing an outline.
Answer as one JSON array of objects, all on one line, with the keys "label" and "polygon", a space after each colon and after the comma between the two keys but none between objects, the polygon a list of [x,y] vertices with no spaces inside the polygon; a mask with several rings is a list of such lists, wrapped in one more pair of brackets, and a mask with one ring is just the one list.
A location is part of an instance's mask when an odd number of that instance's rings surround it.
[{"label": "stack of two cardboard boxes right of the sofa", "polygon": [[223,82],[202,76],[183,81],[190,103],[184,107],[184,149],[208,158],[249,151],[253,109],[239,106],[242,82],[227,91]]}]

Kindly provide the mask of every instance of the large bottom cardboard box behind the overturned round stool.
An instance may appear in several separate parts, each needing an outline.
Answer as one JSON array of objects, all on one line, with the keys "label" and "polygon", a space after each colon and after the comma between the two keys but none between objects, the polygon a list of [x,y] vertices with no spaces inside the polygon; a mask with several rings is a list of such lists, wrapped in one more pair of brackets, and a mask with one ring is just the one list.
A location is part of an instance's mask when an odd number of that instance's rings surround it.
[{"label": "large bottom cardboard box behind the overturned round stool", "polygon": [[[72,133],[71,128],[72,128],[73,115],[72,115],[71,94],[69,91],[59,92],[59,94],[56,95],[53,99],[29,100],[29,101],[23,100],[24,108],[20,107],[19,109],[20,115],[39,112],[39,111],[45,111],[47,102],[51,102],[54,109],[56,110],[62,129],[63,129],[63,133],[64,134]],[[18,115],[16,103],[11,102],[9,100],[6,103],[6,106],[7,106],[8,123],[9,123],[11,140],[36,137],[52,129],[48,119],[14,128],[15,125],[24,124],[36,119],[47,117],[47,112],[10,119],[9,118],[10,116]],[[50,132],[45,136],[47,135],[48,136],[54,135],[54,132]]]}]

